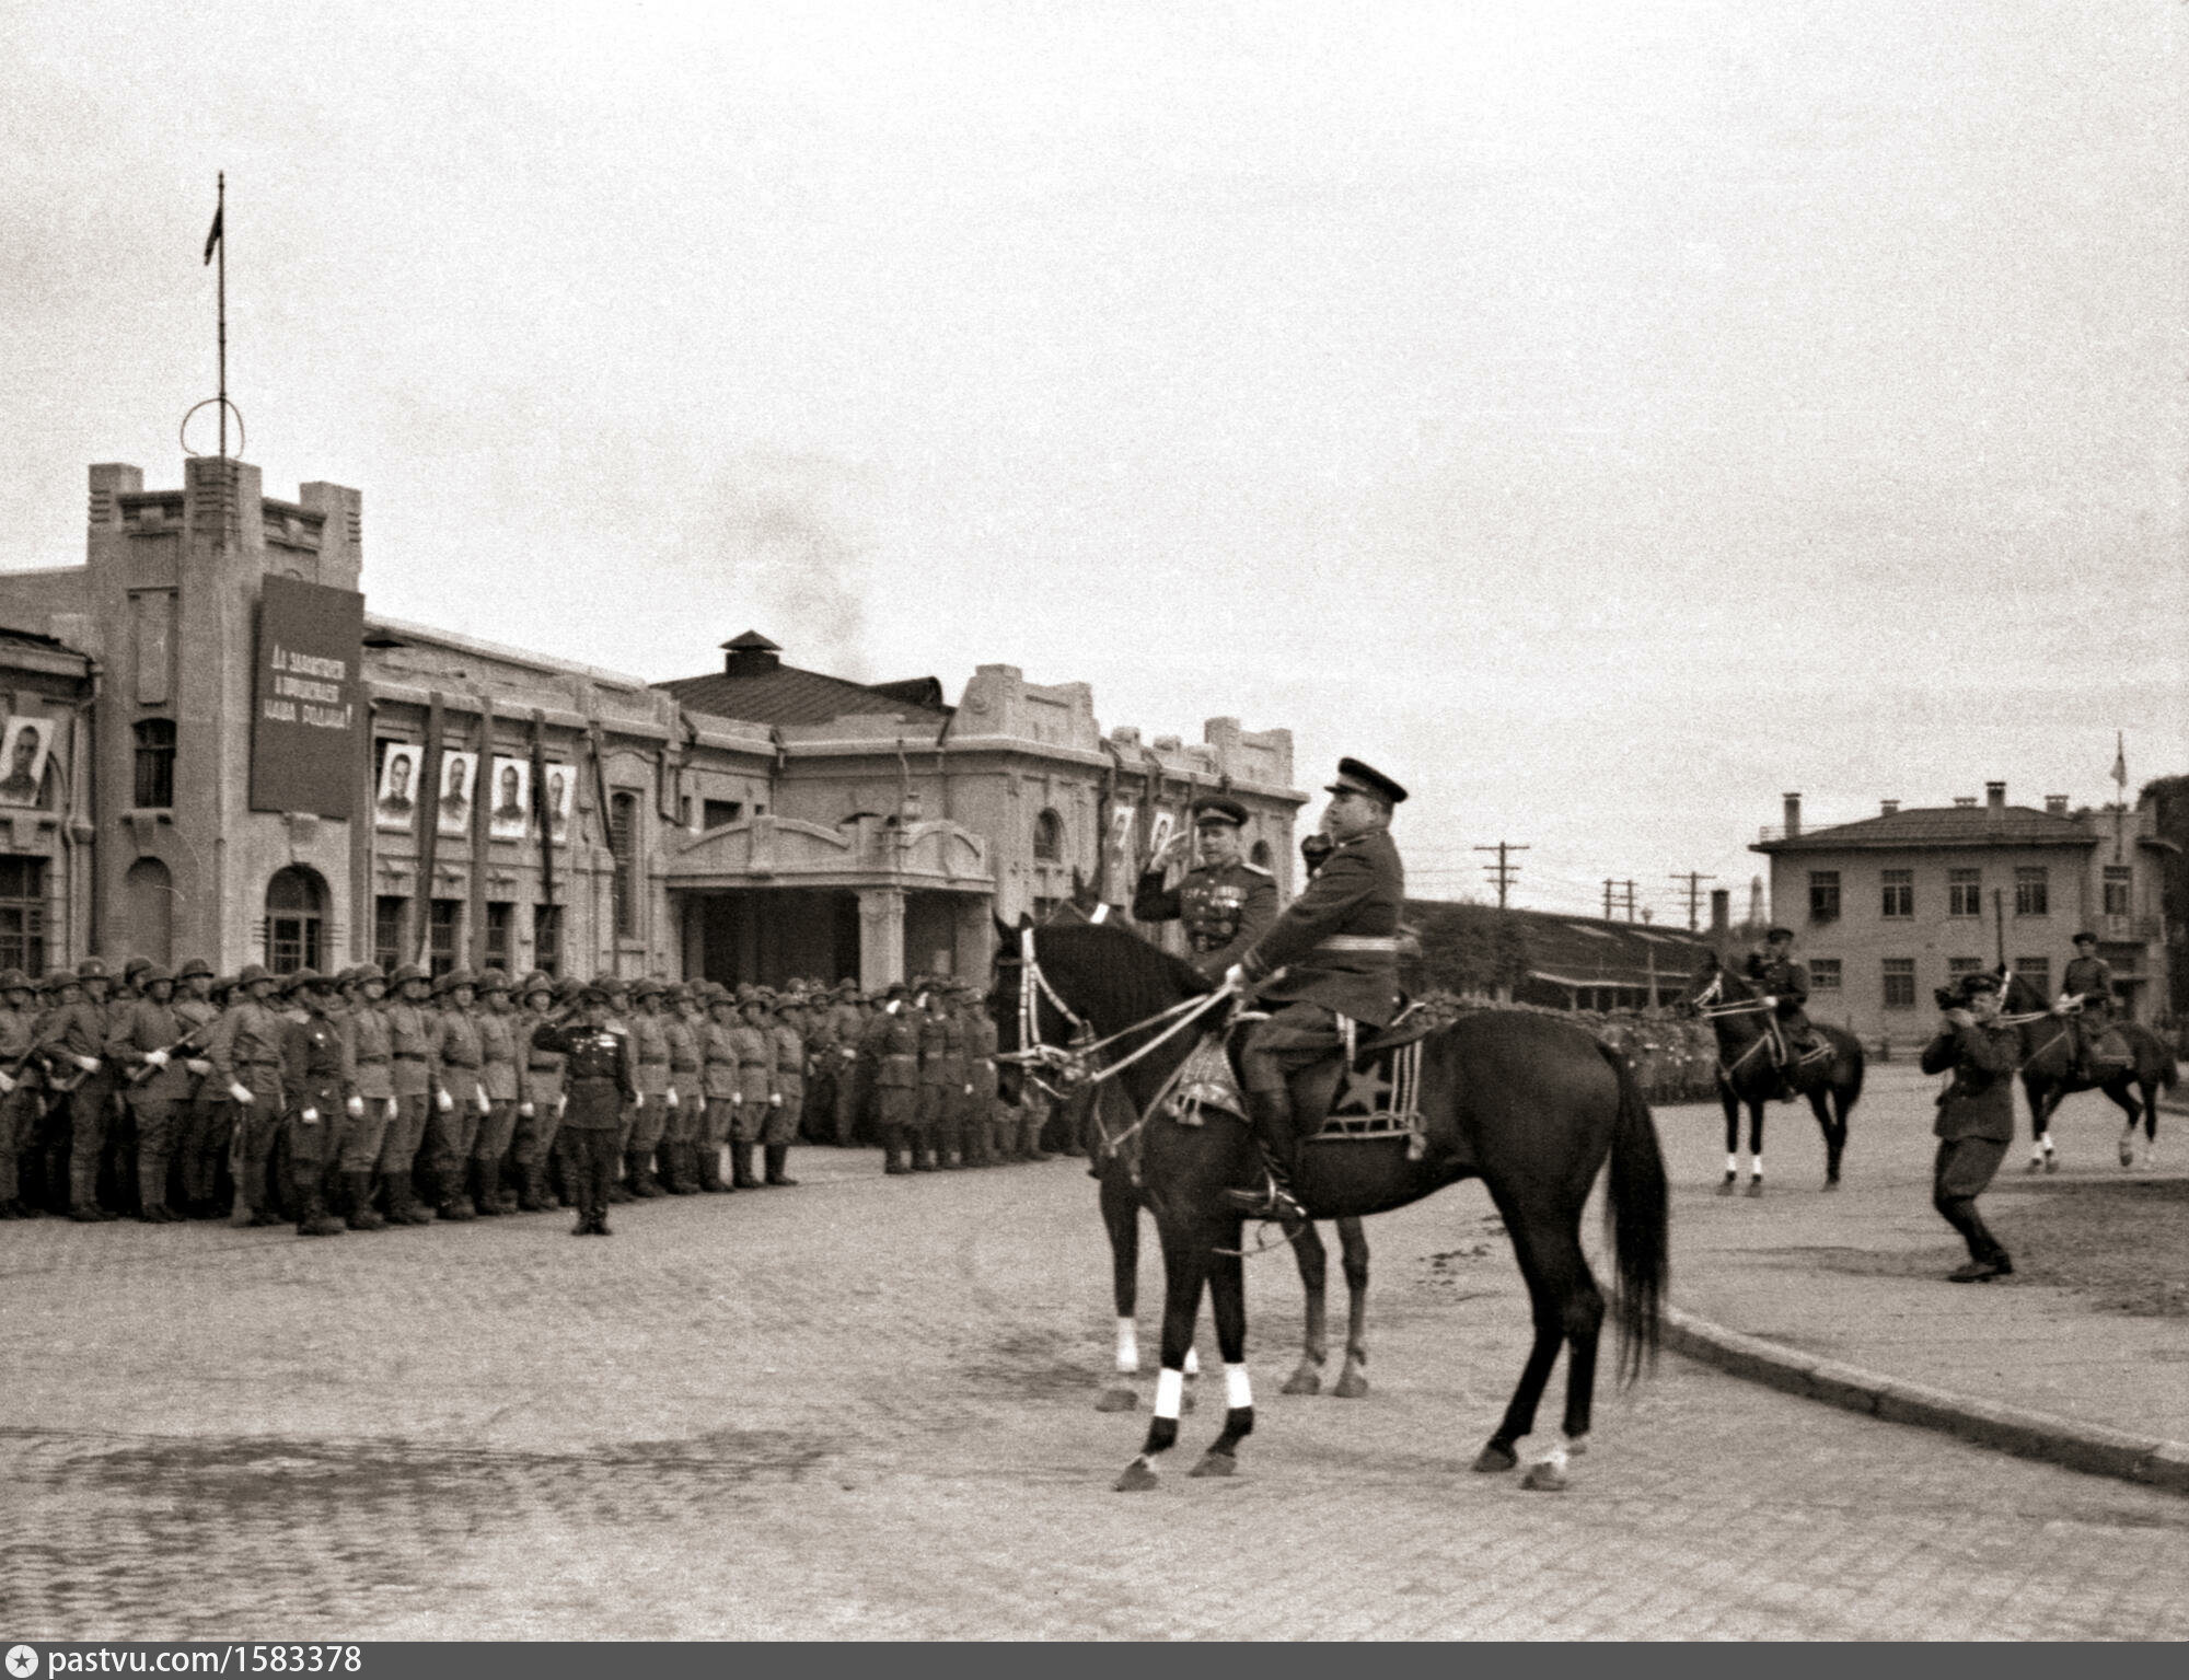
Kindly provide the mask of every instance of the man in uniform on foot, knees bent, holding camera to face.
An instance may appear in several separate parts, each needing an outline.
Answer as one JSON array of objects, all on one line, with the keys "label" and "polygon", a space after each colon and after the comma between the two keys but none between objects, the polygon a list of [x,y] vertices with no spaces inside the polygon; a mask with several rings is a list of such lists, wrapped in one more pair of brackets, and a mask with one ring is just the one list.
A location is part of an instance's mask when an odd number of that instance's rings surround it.
[{"label": "man in uniform on foot, knees bent, holding camera to face", "polygon": [[1926,1074],[1953,1072],[1937,1098],[1937,1164],[1931,1175],[1931,1205],[1968,1242],[1968,1264],[1948,1273],[1957,1284],[1981,1284],[2014,1271],[1981,1218],[1977,1197],[1992,1181],[2014,1142],[2014,1048],[2012,1028],[1999,1026],[1999,976],[1970,973],[1959,987],[1939,987],[1937,1037],[1924,1046]]}]

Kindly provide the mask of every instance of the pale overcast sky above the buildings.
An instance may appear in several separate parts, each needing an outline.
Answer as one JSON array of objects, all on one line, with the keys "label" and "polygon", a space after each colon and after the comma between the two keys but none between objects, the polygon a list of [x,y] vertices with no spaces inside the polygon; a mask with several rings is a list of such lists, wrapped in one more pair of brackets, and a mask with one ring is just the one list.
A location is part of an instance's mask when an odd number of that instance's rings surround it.
[{"label": "pale overcast sky above the buildings", "polygon": [[0,567],[182,481],[225,168],[247,459],[363,490],[370,610],[1009,663],[1370,759],[1421,895],[1513,840],[1519,903],[1738,914],[1784,790],[2189,770],[2185,31],[13,0]]}]

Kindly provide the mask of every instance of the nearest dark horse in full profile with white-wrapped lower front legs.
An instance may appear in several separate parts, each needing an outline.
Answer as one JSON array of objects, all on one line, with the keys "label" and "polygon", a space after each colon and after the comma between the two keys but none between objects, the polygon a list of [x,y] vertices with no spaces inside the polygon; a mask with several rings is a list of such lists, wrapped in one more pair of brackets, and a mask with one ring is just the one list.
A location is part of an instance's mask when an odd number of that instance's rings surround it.
[{"label": "nearest dark horse in full profile with white-wrapped lower front legs", "polygon": [[[1151,1459],[1178,1442],[1178,1396],[1186,1348],[1206,1288],[1224,1354],[1224,1433],[1193,1474],[1232,1474],[1239,1442],[1254,1428],[1246,1372],[1246,1282],[1239,1214],[1224,1190],[1246,1183],[1252,1140],[1243,1120],[1204,1111],[1202,1124],[1156,1113],[1154,1100],[1193,1048],[1200,1024],[1158,1039],[1132,1032],[1151,1017],[1211,991],[1178,958],[1108,925],[1022,928],[996,956],[989,1006],[1007,1052],[1027,1039],[1070,1041],[1077,1017],[1097,1037],[1132,1035],[1114,1063],[1143,1116],[1140,1177],[1162,1240],[1162,1376],[1147,1442],[1119,1479],[1121,1490],[1156,1485]],[[1062,1008],[1059,1008],[1062,1004]],[[1066,1017],[1064,1011],[1070,1011]],[[1204,1019],[1213,1024],[1217,1004]],[[1031,1032],[1020,1032],[1020,1019]],[[1173,1017],[1175,1024],[1178,1017]],[[1307,1148],[1294,1186],[1311,1218],[1359,1218],[1403,1208],[1460,1179],[1480,1177],[1504,1216],[1528,1280],[1534,1345],[1504,1420],[1475,1470],[1510,1470],[1515,1444],[1534,1428],[1559,1348],[1567,1348],[1565,1435],[1526,1479],[1563,1488],[1565,1461],[1589,1431],[1596,1341],[1605,1297],[1580,1251],[1580,1210],[1609,1157],[1607,1218],[1618,1267],[1620,1374],[1633,1378],[1657,1345],[1666,1280],[1666,1179],[1648,1102],[1626,1061],[1567,1022],[1519,1011],[1471,1015],[1432,1032],[1423,1048],[1421,1107],[1427,1148],[1408,1159],[1401,1138]]]}]

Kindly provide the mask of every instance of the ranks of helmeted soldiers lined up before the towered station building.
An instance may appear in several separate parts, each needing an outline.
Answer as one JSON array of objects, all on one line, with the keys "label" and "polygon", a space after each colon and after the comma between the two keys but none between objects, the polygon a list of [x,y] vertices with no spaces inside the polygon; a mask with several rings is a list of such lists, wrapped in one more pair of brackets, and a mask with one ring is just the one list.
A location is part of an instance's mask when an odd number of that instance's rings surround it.
[{"label": "ranks of helmeted soldiers lined up before the towered station building", "polygon": [[[571,1065],[576,1022],[619,1046],[602,1122],[571,1111],[593,1074]],[[582,1205],[595,1159],[617,1203],[790,1188],[799,1138],[880,1142],[891,1175],[1046,1159],[1044,1094],[1000,1100],[994,1057],[981,995],[948,980],[867,995],[372,962],[9,969],[0,1218],[335,1236]],[[580,1138],[593,1124],[613,1148]]]}]

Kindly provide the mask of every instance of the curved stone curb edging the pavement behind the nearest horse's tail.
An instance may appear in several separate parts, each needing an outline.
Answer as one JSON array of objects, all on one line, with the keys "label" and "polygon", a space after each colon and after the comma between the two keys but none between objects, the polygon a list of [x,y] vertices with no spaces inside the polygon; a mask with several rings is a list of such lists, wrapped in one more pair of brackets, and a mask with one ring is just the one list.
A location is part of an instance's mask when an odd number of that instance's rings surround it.
[{"label": "curved stone curb edging the pavement behind the nearest horse's tail", "polygon": [[1799,1393],[1806,1400],[1823,1400],[1891,1424],[1937,1428],[2023,1459],[2042,1459],[2069,1470],[2189,1494],[2189,1444],[2182,1442],[2130,1435],[2104,1424],[2082,1424],[2042,1411],[1948,1393],[1898,1376],[1878,1376],[1858,1365],[1804,1354],[1762,1337],[1745,1337],[1677,1306],[1664,1308],[1661,1339],[1677,1354],[1749,1382]]}]

